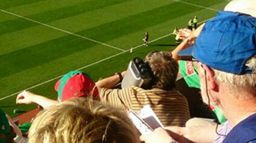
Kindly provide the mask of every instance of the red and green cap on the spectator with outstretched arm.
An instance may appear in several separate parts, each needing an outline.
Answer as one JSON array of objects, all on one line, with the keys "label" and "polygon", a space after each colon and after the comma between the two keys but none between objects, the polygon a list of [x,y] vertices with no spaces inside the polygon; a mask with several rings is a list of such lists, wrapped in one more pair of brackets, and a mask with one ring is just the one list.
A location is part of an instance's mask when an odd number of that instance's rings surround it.
[{"label": "red and green cap on the spectator with outstretched arm", "polygon": [[62,101],[72,97],[88,97],[97,98],[99,91],[89,75],[81,71],[70,71],[57,81],[54,87],[58,92],[58,98]]}]

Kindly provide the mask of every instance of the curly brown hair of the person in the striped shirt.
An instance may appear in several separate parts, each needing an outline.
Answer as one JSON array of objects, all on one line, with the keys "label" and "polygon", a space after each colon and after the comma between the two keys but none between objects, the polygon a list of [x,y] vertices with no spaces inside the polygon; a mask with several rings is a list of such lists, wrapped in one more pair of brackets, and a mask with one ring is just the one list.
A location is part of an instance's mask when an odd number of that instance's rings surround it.
[{"label": "curly brown hair of the person in the striped shirt", "polygon": [[145,62],[148,62],[155,76],[153,88],[172,90],[175,87],[179,65],[172,58],[171,53],[165,51],[150,52],[147,54]]}]

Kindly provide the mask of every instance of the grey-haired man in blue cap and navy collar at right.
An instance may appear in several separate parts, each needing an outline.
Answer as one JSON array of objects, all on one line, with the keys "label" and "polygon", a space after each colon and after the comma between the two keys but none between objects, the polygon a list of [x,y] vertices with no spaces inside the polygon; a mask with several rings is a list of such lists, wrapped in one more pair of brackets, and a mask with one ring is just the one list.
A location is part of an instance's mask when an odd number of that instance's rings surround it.
[{"label": "grey-haired man in blue cap and navy collar at right", "polygon": [[[188,38],[186,43],[192,40]],[[232,130],[223,142],[256,142],[256,18],[219,12],[204,25],[195,44],[179,54],[199,61],[196,66],[204,102],[220,107],[230,122]],[[184,142],[162,128],[141,137],[146,143],[176,142],[174,139]]]}]

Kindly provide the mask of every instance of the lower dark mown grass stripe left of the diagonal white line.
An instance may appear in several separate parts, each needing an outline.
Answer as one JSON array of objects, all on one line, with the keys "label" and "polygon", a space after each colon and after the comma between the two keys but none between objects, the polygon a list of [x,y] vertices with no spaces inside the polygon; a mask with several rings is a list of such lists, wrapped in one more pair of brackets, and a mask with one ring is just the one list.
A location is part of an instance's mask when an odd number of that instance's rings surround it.
[{"label": "lower dark mown grass stripe left of the diagonal white line", "polygon": [[[40,66],[52,60],[93,47],[96,44],[80,37],[68,35],[2,55],[0,59],[4,63],[0,63],[0,78]],[[5,66],[8,65],[6,63],[12,66]],[[14,68],[16,70],[13,70]]]}]

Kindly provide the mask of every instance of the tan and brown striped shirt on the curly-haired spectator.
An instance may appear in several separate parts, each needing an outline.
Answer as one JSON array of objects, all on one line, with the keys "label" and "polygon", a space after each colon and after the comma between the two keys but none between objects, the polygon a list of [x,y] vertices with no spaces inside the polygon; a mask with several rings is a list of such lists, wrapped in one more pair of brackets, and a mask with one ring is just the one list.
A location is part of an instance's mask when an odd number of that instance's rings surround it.
[{"label": "tan and brown striped shirt on the curly-haired spectator", "polygon": [[144,90],[131,86],[126,89],[101,90],[104,103],[138,112],[150,105],[164,126],[184,126],[190,118],[187,99],[179,91],[165,91],[158,88]]}]

